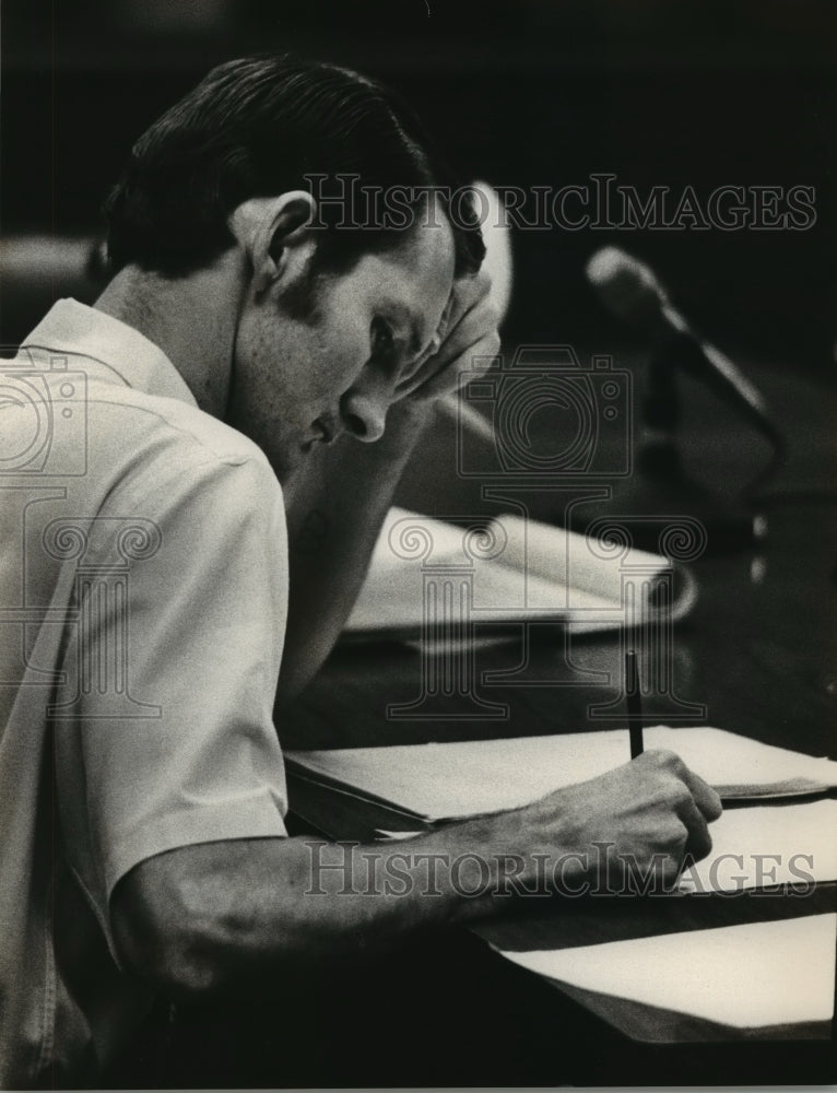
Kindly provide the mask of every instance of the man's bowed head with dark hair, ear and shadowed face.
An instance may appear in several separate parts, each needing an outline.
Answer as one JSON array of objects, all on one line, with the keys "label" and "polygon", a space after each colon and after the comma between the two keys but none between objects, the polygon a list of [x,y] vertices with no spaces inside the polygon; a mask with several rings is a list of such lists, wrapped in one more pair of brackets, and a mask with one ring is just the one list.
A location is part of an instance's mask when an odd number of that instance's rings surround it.
[{"label": "man's bowed head with dark hair, ear and shadowed face", "polygon": [[[311,176],[325,193],[354,177],[402,208],[411,195],[409,227],[318,203]],[[476,218],[447,215],[457,188],[392,92],[287,57],[231,61],[134,145],[108,252],[174,284],[240,257],[225,412],[284,477],[317,440],[380,435],[399,369],[484,256]]]}]

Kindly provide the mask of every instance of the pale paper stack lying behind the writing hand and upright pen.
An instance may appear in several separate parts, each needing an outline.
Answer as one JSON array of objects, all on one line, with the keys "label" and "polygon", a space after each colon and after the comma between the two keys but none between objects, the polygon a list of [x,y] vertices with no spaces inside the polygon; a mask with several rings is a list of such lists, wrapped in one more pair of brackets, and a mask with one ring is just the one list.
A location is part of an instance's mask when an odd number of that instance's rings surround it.
[{"label": "pale paper stack lying behind the writing hand and upright pen", "polygon": [[[646,748],[680,754],[719,790],[739,796],[804,779],[837,785],[837,763],[747,740],[723,729],[663,726],[645,730]],[[422,819],[440,820],[518,808],[554,789],[586,781],[629,759],[627,730],[506,740],[404,744],[287,753],[314,774],[389,801]],[[722,792],[723,796],[723,792]]]}]

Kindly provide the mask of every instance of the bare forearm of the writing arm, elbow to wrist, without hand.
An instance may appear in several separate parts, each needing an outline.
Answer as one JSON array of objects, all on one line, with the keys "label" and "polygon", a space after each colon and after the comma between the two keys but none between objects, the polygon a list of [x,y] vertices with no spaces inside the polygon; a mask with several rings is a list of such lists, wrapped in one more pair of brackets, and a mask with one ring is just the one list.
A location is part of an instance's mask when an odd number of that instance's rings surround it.
[{"label": "bare forearm of the writing arm, elbow to wrist, without hand", "polygon": [[487,849],[491,826],[476,820],[368,846],[268,838],[160,855],[114,895],[120,956],[152,985],[196,1000],[351,963],[490,913],[504,861]]}]

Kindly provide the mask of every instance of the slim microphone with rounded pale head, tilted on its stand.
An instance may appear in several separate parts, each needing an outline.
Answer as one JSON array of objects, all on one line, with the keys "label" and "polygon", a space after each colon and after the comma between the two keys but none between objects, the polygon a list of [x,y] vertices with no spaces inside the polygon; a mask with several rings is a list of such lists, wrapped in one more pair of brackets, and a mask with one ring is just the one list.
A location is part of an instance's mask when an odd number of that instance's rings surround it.
[{"label": "slim microphone with rounded pale head, tilted on its stand", "polygon": [[[774,454],[765,467],[750,483],[755,489],[769,478],[785,460],[785,437],[770,418],[768,407],[758,389],[743,375],[736,365],[719,349],[705,341],[689,326],[683,315],[671,304],[669,295],[653,271],[618,247],[603,247],[597,250],[587,263],[587,279],[596,290],[604,306],[615,316],[626,320],[648,334],[664,351],[669,365],[677,366],[700,378],[719,397],[733,403],[739,412],[753,424],[773,446]],[[664,388],[664,399],[673,398],[671,378],[658,375],[658,386]],[[676,422],[676,407],[660,407],[649,400],[649,416],[658,420],[649,424],[673,425]]]}]

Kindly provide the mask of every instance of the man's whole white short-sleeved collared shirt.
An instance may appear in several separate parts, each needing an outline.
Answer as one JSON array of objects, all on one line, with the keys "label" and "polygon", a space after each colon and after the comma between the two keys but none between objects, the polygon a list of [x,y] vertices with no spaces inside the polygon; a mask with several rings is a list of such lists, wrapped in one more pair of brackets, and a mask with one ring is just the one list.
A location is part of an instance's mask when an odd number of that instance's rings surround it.
[{"label": "man's whole white short-sleeved collared shirt", "polygon": [[95,1071],[148,1008],[109,898],[281,836],[282,493],[173,364],[60,301],[0,366],[0,1086]]}]

